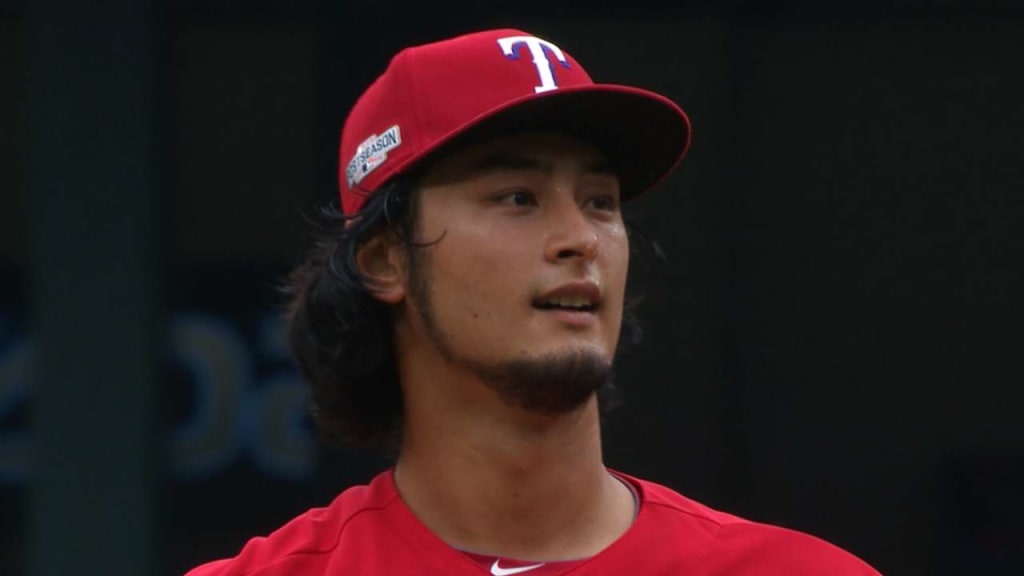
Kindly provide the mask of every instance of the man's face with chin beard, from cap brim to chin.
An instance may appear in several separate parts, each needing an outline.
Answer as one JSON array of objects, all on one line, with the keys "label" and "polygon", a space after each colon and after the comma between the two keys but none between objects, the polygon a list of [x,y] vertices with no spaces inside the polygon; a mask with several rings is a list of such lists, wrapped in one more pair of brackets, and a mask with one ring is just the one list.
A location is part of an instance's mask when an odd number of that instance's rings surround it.
[{"label": "man's face with chin beard, from cap brim to chin", "polygon": [[610,377],[629,265],[606,160],[569,137],[510,136],[421,183],[411,337],[527,410],[586,403]]}]

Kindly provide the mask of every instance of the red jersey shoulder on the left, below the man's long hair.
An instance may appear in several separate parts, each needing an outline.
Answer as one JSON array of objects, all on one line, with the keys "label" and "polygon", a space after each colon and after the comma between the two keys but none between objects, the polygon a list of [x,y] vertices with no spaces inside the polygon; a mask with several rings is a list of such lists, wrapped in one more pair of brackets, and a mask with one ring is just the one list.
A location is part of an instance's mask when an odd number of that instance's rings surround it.
[{"label": "red jersey shoulder on the left, below the man's long hair", "polygon": [[[199,566],[185,576],[278,576],[323,572],[346,528],[381,510],[397,493],[384,472],[370,485],[342,492],[326,507],[312,508],[267,536],[249,540],[238,556]],[[372,513],[370,516],[373,516]]]}]

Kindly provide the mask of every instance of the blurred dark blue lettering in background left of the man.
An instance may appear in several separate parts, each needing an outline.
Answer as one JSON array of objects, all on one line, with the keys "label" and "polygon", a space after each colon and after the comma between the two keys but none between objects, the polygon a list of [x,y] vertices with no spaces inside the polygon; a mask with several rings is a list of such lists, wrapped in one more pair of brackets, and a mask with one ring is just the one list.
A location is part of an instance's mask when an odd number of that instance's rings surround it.
[{"label": "blurred dark blue lettering in background left of the man", "polygon": [[[252,277],[220,275],[206,284],[207,296],[184,290],[197,307],[169,319],[164,398],[173,422],[168,468],[176,481],[201,483],[239,466],[285,482],[306,482],[315,471],[308,388],[290,360],[285,319],[260,301],[258,289],[241,302],[236,297],[245,286],[266,284]],[[96,328],[97,337],[102,331]],[[33,356],[17,308],[0,307],[0,485],[32,479]]]}]

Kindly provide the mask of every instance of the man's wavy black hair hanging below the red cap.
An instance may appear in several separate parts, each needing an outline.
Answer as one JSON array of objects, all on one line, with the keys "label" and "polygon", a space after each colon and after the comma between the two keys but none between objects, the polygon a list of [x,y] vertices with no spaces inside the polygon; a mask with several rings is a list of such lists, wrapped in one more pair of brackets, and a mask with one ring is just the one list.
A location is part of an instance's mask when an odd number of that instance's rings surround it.
[{"label": "man's wavy black hair hanging below the red cap", "polygon": [[[391,313],[373,295],[355,256],[378,234],[393,233],[408,250],[422,247],[413,242],[418,204],[415,179],[398,176],[372,194],[355,215],[322,209],[314,224],[318,240],[288,279],[289,344],[311,385],[316,426],[340,446],[387,451],[398,446],[402,397]],[[633,227],[627,230],[634,236]],[[640,338],[632,307],[626,306],[623,319],[625,345]],[[613,393],[612,387],[599,390],[602,412],[617,405]]]}]

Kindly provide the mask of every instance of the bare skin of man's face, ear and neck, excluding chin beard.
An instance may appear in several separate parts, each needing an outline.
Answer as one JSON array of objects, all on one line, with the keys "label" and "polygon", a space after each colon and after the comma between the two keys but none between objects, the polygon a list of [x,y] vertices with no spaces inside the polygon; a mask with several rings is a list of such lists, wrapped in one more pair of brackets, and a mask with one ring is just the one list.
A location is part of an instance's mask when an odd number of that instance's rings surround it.
[{"label": "bare skin of man's face, ear and neck, excluding chin beard", "polygon": [[[632,493],[604,467],[596,398],[530,410],[484,374],[559,358],[610,366],[629,266],[617,178],[586,142],[528,134],[456,152],[421,184],[417,240],[433,243],[418,270],[385,237],[358,256],[395,310],[402,499],[458,548],[532,561],[593,556],[635,515]],[[535,305],[573,282],[600,289],[583,321]]]}]

